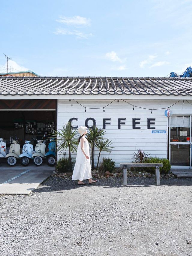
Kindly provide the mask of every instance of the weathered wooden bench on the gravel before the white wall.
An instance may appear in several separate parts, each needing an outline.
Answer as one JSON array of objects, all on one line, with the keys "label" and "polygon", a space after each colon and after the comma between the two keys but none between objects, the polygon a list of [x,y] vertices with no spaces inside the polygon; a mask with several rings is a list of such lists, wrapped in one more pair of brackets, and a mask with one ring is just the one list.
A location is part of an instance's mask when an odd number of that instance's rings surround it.
[{"label": "weathered wooden bench on the gravel before the white wall", "polygon": [[159,167],[163,167],[163,164],[134,164],[134,163],[124,163],[120,164],[123,167],[123,185],[127,186],[127,168],[128,167],[155,167],[155,182],[157,186],[160,186],[160,172]]}]

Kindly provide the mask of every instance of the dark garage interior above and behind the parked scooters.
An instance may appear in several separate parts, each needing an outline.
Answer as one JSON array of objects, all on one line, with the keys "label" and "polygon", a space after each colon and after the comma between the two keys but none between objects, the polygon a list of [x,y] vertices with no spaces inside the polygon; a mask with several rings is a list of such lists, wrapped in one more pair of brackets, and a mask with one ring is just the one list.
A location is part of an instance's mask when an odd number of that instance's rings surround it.
[{"label": "dark garage interior above and behind the parked scooters", "polygon": [[0,137],[7,153],[11,138],[17,137],[21,152],[25,140],[35,146],[34,139],[41,140],[44,135],[44,140],[49,138],[56,129],[56,106],[56,100],[0,100]]}]

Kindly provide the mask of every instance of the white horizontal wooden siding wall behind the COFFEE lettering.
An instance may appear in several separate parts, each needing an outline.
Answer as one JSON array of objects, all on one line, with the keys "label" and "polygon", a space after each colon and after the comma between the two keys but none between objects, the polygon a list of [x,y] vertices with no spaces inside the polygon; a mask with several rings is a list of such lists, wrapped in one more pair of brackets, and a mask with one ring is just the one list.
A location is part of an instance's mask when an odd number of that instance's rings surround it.
[{"label": "white horizontal wooden siding wall behind the COFFEE lettering", "polygon": [[[85,107],[104,107],[112,100],[77,100]],[[140,107],[146,107],[149,109],[164,108],[174,104],[176,101],[160,101],[160,100],[127,100],[133,105]],[[65,124],[70,118],[78,118],[77,121],[73,121],[73,125],[85,126],[85,119],[94,118],[96,125],[99,128],[103,128],[103,118],[111,118],[110,125],[106,125],[105,138],[109,138],[113,142],[114,148],[111,153],[101,152],[100,159],[102,157],[110,157],[116,162],[116,166],[122,162],[133,161],[133,153],[137,149],[143,149],[145,152],[151,154],[151,156],[157,156],[160,158],[167,158],[167,124],[168,118],[165,117],[163,110],[145,110],[133,107],[121,100],[110,104],[103,109],[86,109],[77,104],[71,99],[58,100],[58,129],[62,129],[62,125]],[[171,107],[173,114],[192,114],[192,106],[186,101],[183,104],[182,101]],[[121,125],[121,129],[118,129],[118,118],[126,118],[125,125]],[[140,118],[141,129],[132,128],[132,118]],[[152,134],[151,129],[147,129],[147,119],[155,118],[155,129],[166,130],[166,134]],[[154,122],[154,121],[151,121]],[[92,121],[88,122],[88,125],[92,125]],[[68,156],[68,152],[66,151]],[[62,155],[62,154],[61,154]],[[76,154],[72,155],[73,158]],[[95,163],[98,159],[98,150],[95,149]]]}]

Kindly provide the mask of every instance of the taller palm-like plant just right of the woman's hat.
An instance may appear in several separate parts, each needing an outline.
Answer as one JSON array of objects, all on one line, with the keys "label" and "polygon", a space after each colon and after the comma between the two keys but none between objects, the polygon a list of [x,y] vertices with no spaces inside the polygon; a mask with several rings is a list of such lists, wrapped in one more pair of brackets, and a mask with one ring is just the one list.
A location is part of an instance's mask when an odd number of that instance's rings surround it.
[{"label": "taller palm-like plant just right of the woman's hat", "polygon": [[91,146],[91,163],[92,163],[92,170],[95,169],[95,164],[94,164],[94,146],[96,144],[97,140],[102,140],[103,136],[105,134],[104,129],[99,129],[97,126],[93,126],[92,128],[89,129],[87,132],[87,140]]}]

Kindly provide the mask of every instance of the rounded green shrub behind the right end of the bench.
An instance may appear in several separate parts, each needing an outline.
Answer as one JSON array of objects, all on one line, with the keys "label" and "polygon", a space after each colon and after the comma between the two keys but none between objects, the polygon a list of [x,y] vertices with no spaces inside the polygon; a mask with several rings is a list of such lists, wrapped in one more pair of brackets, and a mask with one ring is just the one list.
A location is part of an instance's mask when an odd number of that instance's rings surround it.
[{"label": "rounded green shrub behind the right end of the bench", "polygon": [[[146,158],[143,163],[145,164],[163,164],[163,167],[159,168],[160,173],[167,173],[171,169],[170,161],[166,158],[158,158],[158,157],[149,157]],[[144,167],[145,171],[155,173],[155,167]]]}]

